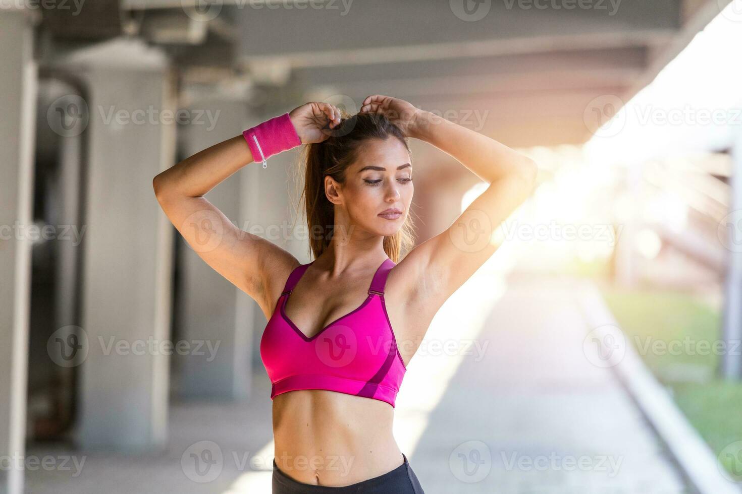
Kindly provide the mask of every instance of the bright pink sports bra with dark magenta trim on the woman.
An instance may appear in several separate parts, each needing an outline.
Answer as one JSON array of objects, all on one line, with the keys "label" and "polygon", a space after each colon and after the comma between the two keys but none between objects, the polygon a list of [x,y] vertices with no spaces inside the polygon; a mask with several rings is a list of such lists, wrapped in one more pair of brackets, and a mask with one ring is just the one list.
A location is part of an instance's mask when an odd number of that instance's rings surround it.
[{"label": "bright pink sports bra with dark magenta trim on the woman", "polygon": [[394,407],[407,370],[384,303],[384,284],[396,264],[376,269],[368,297],[352,312],[308,338],[286,316],[286,299],[309,264],[292,271],[260,338],[271,399],[295,390],[330,390],[386,401]]}]

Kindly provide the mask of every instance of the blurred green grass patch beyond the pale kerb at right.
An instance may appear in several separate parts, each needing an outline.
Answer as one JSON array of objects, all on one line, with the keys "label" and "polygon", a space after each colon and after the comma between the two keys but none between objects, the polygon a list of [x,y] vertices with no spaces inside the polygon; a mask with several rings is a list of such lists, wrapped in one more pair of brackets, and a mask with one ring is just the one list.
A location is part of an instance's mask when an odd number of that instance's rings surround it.
[{"label": "blurred green grass patch beyond the pale kerb at right", "polygon": [[[713,346],[720,341],[718,311],[683,293],[603,290],[603,296],[643,361],[672,390],[677,406],[715,454],[741,441],[742,383],[718,377],[719,356]],[[653,351],[656,341],[680,346]],[[731,464],[723,462],[729,470]]]}]

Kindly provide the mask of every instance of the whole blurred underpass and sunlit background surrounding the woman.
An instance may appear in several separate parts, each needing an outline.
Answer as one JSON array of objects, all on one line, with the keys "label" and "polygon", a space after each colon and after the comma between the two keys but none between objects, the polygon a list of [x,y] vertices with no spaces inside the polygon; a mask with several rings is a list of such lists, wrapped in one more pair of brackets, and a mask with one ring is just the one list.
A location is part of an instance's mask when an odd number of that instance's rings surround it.
[{"label": "whole blurred underpass and sunlit background surrounding the woman", "polygon": [[[151,181],[375,93],[539,164],[398,395],[425,492],[741,492],[741,47],[742,0],[0,1],[0,492],[270,492],[266,320]],[[420,243],[485,184],[411,146]],[[298,157],[207,198],[309,262]]]}]

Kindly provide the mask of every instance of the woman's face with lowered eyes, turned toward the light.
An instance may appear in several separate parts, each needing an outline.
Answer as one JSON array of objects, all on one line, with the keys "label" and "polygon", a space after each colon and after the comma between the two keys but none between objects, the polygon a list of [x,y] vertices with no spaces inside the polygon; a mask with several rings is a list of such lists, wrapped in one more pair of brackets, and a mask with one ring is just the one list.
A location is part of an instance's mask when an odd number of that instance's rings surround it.
[{"label": "woman's face with lowered eyes, turned toward the light", "polygon": [[410,212],[412,178],[412,159],[404,144],[395,137],[373,139],[358,150],[358,159],[345,170],[345,183],[332,202],[344,208],[350,224],[392,236]]}]

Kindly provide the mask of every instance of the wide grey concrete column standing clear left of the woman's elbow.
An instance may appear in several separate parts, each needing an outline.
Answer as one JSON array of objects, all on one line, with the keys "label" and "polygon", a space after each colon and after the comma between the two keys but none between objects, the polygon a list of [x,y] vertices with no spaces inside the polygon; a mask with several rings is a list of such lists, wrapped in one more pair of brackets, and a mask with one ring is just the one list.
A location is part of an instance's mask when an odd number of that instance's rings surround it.
[{"label": "wide grey concrete column standing clear left of the woman's elbow", "polygon": [[152,178],[174,162],[174,79],[165,56],[137,40],[55,62],[88,86],[88,101],[63,107],[88,133],[76,437],[89,449],[157,450],[167,438],[173,232]]}]

